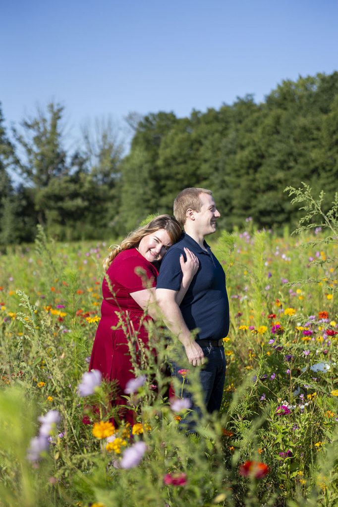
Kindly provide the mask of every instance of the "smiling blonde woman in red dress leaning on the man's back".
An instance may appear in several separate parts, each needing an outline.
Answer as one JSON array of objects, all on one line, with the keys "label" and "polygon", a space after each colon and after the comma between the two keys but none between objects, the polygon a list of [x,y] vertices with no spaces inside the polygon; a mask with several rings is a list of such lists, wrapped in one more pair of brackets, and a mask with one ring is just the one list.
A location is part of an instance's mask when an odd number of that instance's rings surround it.
[{"label": "smiling blonde woman in red dress leaning on the man's back", "polygon": [[[148,347],[144,322],[155,316],[155,288],[160,261],[181,237],[181,226],[170,215],[160,215],[129,234],[104,261],[107,270],[102,284],[103,302],[90,358],[89,371],[99,370],[108,380],[117,380],[115,405],[125,405],[126,383],[134,378],[128,349],[128,331]],[[183,278],[177,301],[180,304],[198,269],[198,260],[186,249],[181,258]],[[146,312],[145,312],[146,311]],[[122,325],[121,325],[122,321]],[[119,324],[120,326],[116,328]],[[115,328],[115,329],[112,329]],[[131,410],[121,410],[121,419],[134,422]]]}]

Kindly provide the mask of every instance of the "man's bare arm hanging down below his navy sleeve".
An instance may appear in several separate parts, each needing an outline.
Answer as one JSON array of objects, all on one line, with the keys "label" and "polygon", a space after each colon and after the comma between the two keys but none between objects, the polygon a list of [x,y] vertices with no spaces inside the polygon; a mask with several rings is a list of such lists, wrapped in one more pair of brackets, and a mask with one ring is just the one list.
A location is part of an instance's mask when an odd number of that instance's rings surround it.
[{"label": "man's bare arm hanging down below his navy sleeve", "polygon": [[156,289],[156,301],[163,313],[165,325],[172,333],[178,336],[185,348],[190,365],[204,364],[204,354],[198,343],[191,337],[190,331],[184,322],[180,307],[175,296],[177,291],[172,289]]}]

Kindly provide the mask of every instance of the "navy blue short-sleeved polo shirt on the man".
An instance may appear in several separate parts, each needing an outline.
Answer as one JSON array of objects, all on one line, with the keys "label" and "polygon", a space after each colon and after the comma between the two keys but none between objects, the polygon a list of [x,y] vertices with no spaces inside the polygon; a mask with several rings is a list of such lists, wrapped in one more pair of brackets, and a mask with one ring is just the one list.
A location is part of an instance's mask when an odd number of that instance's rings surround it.
[{"label": "navy blue short-sleeved polo shirt on the man", "polygon": [[229,332],[229,302],[225,287],[225,273],[204,242],[207,251],[188,234],[183,233],[178,243],[166,252],[162,261],[156,288],[179,291],[182,281],[180,255],[183,247],[189,248],[199,260],[198,271],[193,277],[180,305],[185,323],[191,331],[198,328],[196,340],[219,340]]}]

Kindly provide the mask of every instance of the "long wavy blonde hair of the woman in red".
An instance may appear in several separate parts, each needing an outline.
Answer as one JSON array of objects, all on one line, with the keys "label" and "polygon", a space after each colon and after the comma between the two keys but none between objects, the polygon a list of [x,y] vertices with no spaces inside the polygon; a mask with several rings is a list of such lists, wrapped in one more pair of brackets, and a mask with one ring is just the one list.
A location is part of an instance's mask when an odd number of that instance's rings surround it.
[{"label": "long wavy blonde hair of the woman in red", "polygon": [[141,239],[148,234],[152,234],[153,232],[158,231],[159,229],[164,229],[168,236],[170,237],[171,242],[177,243],[177,241],[181,237],[182,229],[178,221],[171,215],[159,215],[156,216],[153,220],[151,220],[145,226],[139,227],[136,231],[128,234],[126,238],[124,238],[119,245],[111,246],[112,250],[106,259],[103,262],[105,271],[109,268],[115,257],[122,252],[123,250],[128,250],[129,248],[134,248],[139,246]]}]

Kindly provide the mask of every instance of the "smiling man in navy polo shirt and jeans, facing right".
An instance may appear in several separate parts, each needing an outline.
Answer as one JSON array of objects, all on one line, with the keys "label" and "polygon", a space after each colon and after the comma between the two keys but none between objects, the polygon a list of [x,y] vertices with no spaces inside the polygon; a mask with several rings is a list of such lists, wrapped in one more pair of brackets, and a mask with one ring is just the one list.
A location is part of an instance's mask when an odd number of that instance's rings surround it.
[{"label": "smiling man in navy polo shirt and jeans, facing right", "polygon": [[[210,190],[187,188],[175,199],[174,215],[184,232],[164,256],[156,300],[167,327],[182,342],[189,363],[205,365],[200,370],[200,381],[207,411],[212,413],[219,411],[223,395],[226,363],[222,339],[229,331],[229,303],[224,271],[205,237],[216,231],[220,213]],[[180,256],[184,255],[184,247],[197,256],[199,267],[178,306],[175,295],[181,285]],[[193,339],[190,332],[195,329],[198,331]],[[176,375],[179,365],[172,366]]]}]

